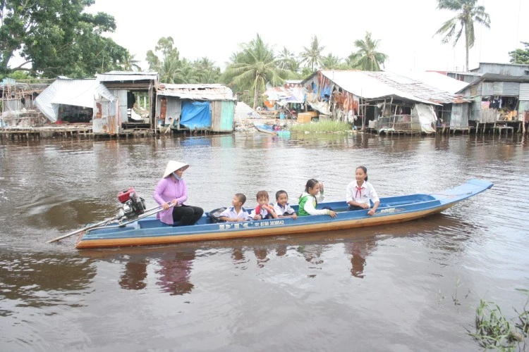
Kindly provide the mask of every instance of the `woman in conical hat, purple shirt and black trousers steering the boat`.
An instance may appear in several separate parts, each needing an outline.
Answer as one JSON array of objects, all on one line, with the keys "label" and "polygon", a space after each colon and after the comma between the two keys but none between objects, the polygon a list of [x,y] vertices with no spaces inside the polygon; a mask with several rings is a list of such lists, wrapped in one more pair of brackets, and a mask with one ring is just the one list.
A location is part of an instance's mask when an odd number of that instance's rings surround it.
[{"label": "woman in conical hat, purple shirt and black trousers steering the boat", "polygon": [[[188,185],[183,180],[183,172],[189,164],[180,161],[169,161],[165,168],[164,177],[159,180],[154,189],[154,200],[164,208],[156,217],[168,225],[184,226],[195,225],[204,209],[197,206],[188,206]],[[173,206],[171,206],[173,205]]]}]

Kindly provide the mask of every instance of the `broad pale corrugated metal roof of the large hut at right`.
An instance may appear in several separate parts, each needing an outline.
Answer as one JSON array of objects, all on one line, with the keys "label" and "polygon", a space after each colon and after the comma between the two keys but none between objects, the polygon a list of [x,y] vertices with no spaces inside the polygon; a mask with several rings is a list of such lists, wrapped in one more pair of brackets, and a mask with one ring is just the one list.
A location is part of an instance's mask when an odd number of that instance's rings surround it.
[{"label": "broad pale corrugated metal roof of the large hut at right", "polygon": [[342,89],[364,99],[397,96],[402,99],[435,105],[466,102],[466,99],[460,96],[396,73],[358,70],[321,70],[320,72]]}]

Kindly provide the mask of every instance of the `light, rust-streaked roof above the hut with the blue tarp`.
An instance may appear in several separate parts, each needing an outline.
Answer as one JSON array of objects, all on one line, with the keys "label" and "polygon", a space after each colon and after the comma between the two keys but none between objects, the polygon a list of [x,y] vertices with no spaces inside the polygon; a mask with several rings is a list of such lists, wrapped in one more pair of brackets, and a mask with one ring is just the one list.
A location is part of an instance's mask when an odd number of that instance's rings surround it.
[{"label": "light, rust-streaked roof above the hut with the blue tarp", "polygon": [[158,84],[158,95],[191,100],[236,100],[222,84]]}]

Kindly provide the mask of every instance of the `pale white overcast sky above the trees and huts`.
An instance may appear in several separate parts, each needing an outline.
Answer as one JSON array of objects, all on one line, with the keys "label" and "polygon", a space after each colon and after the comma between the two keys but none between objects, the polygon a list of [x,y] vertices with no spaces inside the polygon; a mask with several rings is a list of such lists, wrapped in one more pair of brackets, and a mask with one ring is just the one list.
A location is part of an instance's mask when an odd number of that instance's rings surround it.
[{"label": "pale white overcast sky above the trees and huts", "polygon": [[[529,42],[529,1],[478,3],[490,14],[491,28],[475,27],[470,68],[480,61],[509,62],[507,53],[522,48],[519,42]],[[380,39],[380,51],[389,55],[386,70],[462,70],[465,65],[464,37],[455,48],[433,37],[455,15],[437,10],[436,0],[95,0],[90,12],[97,11],[114,15],[117,29],[109,36],[142,61],[160,37],[171,36],[181,57],[207,56],[224,68],[238,45],[256,33],[276,51],[286,46],[296,54],[317,35],[324,54],[345,58],[355,51],[355,39],[363,39],[369,31],[372,38]],[[142,68],[147,69],[145,61]]]}]

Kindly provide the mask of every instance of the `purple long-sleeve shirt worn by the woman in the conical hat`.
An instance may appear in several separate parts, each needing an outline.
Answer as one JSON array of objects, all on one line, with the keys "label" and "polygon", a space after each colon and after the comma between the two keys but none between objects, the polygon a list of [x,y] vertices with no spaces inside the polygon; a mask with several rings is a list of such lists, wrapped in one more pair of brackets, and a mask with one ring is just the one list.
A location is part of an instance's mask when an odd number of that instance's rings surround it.
[{"label": "purple long-sleeve shirt worn by the woman in the conical hat", "polygon": [[[159,180],[152,195],[154,200],[161,206],[176,199],[176,206],[181,206],[188,200],[188,185],[185,180],[174,180],[169,176]],[[156,217],[165,224],[173,225],[173,208],[162,210],[156,214]]]}]

